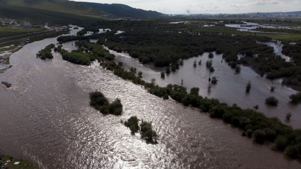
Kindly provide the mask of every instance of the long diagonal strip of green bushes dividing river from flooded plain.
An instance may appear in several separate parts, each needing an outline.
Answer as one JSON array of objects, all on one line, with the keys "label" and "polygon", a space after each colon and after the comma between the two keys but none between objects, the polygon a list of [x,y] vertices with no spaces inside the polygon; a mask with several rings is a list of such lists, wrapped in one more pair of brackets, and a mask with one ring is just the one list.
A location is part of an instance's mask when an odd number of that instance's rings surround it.
[{"label": "long diagonal strip of green bushes dividing river from flooded plain", "polygon": [[[239,127],[247,136],[253,137],[258,143],[272,143],[274,149],[285,151],[292,158],[300,157],[301,155],[301,129],[293,129],[292,126],[283,124],[277,117],[268,118],[263,113],[253,109],[242,109],[236,104],[228,105],[221,103],[218,99],[200,96],[198,95],[199,88],[197,87],[192,88],[188,93],[187,89],[180,85],[169,84],[166,87],[160,87],[154,82],[145,82],[135,72],[125,70],[121,66],[122,63],[116,64],[113,61],[114,56],[110,55],[108,57],[108,50],[103,49],[99,42],[96,44],[82,41],[78,42],[77,45],[79,45],[78,50],[71,53],[64,51],[63,54],[81,54],[87,59],[90,59],[90,56],[94,56],[104,69],[111,70],[115,75],[131,80],[136,85],[143,86],[150,94],[163,99],[171,97],[185,106],[190,105],[202,112],[207,112],[212,118],[219,118],[235,127]],[[81,49],[81,47],[84,49]],[[85,51],[86,49],[88,54],[82,52],[82,50]],[[78,64],[80,63],[78,62]]]}]

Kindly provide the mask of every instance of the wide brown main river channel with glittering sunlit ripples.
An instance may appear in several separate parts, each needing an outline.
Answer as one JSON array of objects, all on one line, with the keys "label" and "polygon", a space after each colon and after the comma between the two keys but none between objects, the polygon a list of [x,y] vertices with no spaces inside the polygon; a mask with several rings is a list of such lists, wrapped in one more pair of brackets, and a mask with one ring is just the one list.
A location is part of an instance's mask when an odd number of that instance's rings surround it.
[{"label": "wide brown main river channel with glittering sunlit ripples", "polygon": [[[76,30],[71,31],[74,33]],[[56,44],[56,38],[25,45],[11,55],[13,67],[0,74],[0,80],[12,84],[10,88],[0,85],[0,148],[5,154],[22,157],[40,168],[301,166],[300,161],[272,151],[270,145],[240,136],[239,129],[222,120],[150,95],[97,62],[76,65],[59,53],[53,53],[51,60],[37,59],[35,54],[50,43]],[[75,47],[64,43],[63,48]],[[188,60],[185,64],[189,65]],[[102,115],[91,107],[88,93],[95,90],[111,101],[120,98],[123,114]],[[159,144],[146,144],[120,123],[132,115],[152,121]]]}]

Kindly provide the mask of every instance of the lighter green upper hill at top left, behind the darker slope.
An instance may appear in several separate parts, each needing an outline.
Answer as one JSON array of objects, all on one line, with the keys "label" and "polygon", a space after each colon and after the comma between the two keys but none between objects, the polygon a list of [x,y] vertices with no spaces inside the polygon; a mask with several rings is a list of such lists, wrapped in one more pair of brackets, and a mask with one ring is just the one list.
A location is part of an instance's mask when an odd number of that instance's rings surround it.
[{"label": "lighter green upper hill at top left, behind the darker slope", "polygon": [[0,4],[1,6],[28,7],[73,14],[105,14],[105,12],[100,9],[91,8],[84,4],[68,0],[0,0]]}]

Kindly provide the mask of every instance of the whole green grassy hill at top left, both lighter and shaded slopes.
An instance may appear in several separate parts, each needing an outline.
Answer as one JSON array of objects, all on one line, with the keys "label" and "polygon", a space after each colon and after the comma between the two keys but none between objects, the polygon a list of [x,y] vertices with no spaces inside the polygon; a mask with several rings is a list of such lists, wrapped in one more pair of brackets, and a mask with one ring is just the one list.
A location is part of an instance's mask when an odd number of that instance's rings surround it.
[{"label": "whole green grassy hill at top left, both lighter and shaded slopes", "polygon": [[30,22],[92,21],[103,19],[100,9],[68,0],[0,0],[0,18]]}]

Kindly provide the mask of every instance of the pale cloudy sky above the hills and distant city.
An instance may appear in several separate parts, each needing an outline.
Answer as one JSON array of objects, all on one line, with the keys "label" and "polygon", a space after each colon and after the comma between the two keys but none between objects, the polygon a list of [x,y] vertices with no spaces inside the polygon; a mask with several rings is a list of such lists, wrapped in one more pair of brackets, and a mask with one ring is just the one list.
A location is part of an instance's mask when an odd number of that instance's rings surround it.
[{"label": "pale cloudy sky above the hills and distant city", "polygon": [[251,13],[301,11],[301,0],[73,0],[94,3],[121,3],[133,8],[165,14]]}]

